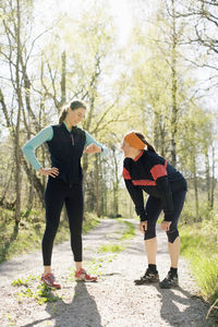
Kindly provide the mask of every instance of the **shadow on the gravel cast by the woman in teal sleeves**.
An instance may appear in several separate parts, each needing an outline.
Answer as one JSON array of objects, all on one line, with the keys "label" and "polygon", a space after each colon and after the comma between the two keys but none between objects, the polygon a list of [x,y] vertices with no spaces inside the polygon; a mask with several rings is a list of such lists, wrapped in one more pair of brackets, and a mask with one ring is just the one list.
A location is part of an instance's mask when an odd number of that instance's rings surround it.
[{"label": "shadow on the gravel cast by the woman in teal sleeves", "polygon": [[48,303],[45,311],[49,313],[50,317],[35,320],[22,327],[41,326],[44,322],[52,322],[52,326],[56,327],[102,327],[96,302],[83,282],[76,283],[71,303],[65,303],[63,300]]}]

